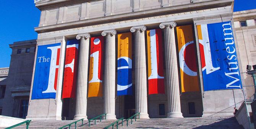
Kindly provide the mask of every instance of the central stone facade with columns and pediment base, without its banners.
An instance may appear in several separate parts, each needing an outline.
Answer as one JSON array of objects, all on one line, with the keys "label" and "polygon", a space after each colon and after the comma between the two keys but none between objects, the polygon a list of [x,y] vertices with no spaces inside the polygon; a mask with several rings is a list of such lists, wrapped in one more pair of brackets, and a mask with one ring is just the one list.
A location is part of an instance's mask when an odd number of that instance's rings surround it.
[{"label": "central stone facade with columns and pediment base, without its banners", "polygon": [[[78,85],[79,94],[70,99],[68,108],[61,98],[63,74],[58,75],[56,99],[29,99],[27,119],[62,120],[93,118],[107,113],[107,119],[126,116],[128,112],[140,112],[143,118],[166,117],[201,117],[209,115],[233,115],[233,107],[243,101],[241,90],[203,91],[203,78],[196,25],[232,21],[233,0],[36,0],[36,7],[41,10],[37,45],[61,42],[60,64],[65,60],[65,45],[68,39],[80,39]],[[234,16],[235,17],[235,16]],[[200,91],[180,91],[179,66],[177,59],[176,25],[193,25],[197,44],[197,63]],[[250,24],[251,25],[251,24]],[[144,31],[161,28],[165,36],[165,91],[166,94],[147,95],[147,69]],[[237,28],[236,28],[237,30]],[[233,29],[235,32],[235,29]],[[238,31],[238,30],[237,30]],[[133,33],[133,96],[116,96],[116,60],[115,48],[118,33]],[[104,97],[87,98],[87,62],[89,57],[90,36],[105,36],[105,74]],[[234,34],[235,35],[235,34]],[[234,36],[236,37],[236,36]],[[237,55],[244,53],[240,49],[239,39]],[[176,49],[175,49],[176,46]],[[14,50],[15,52],[15,50]],[[83,53],[82,53],[83,52]],[[87,55],[86,55],[87,53]],[[30,59],[34,64],[36,59]],[[168,60],[172,57],[172,60]],[[12,57],[13,58],[13,57]],[[34,59],[34,62],[32,60]],[[238,58],[240,69],[244,68]],[[81,68],[80,68],[81,67]],[[12,67],[10,67],[11,69]],[[31,72],[34,71],[31,67]],[[59,69],[63,73],[63,69]],[[30,73],[29,73],[30,75]],[[81,78],[80,78],[81,76]],[[33,75],[30,75],[30,96],[32,93]],[[251,82],[252,83],[252,82]],[[25,85],[25,84],[24,84]],[[175,93],[175,94],[172,94]],[[82,95],[81,95],[82,94]],[[173,99],[175,98],[175,99]],[[83,103],[79,103],[83,102]],[[109,102],[109,103],[108,103]],[[189,113],[189,103],[195,105],[195,113]],[[165,115],[159,115],[159,104],[164,104]],[[64,116],[63,112],[68,112]],[[8,114],[8,116],[11,116]],[[64,118],[65,117],[65,118]]]}]

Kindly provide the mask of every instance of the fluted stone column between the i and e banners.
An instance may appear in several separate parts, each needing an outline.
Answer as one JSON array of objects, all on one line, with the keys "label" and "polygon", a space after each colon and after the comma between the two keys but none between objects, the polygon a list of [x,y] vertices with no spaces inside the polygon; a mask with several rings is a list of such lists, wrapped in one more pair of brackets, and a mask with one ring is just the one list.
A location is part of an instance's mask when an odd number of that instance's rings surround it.
[{"label": "fluted stone column between the i and e banners", "polygon": [[115,116],[115,30],[105,30],[105,76],[104,76],[104,113],[106,119],[117,119]]}]

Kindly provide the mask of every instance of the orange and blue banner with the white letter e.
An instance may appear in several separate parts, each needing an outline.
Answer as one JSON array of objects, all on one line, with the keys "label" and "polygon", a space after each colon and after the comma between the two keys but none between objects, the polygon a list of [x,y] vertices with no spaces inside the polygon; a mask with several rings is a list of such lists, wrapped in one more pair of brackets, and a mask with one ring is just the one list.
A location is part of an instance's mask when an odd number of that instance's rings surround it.
[{"label": "orange and blue banner with the white letter e", "polygon": [[117,95],[132,95],[131,33],[117,36]]}]

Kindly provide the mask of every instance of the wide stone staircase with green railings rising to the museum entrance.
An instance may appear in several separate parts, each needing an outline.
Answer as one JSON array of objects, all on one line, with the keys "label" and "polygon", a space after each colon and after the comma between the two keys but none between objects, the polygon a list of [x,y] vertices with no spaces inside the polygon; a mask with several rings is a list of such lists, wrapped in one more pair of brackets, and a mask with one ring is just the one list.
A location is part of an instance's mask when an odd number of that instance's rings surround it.
[{"label": "wide stone staircase with green railings rising to the museum entrance", "polygon": [[[91,122],[91,127],[88,126],[88,121],[84,122],[81,127],[81,122],[77,123],[77,129],[103,129],[115,120],[97,120],[96,125]],[[66,121],[31,121],[29,129],[57,129],[66,124],[72,123],[74,120]],[[116,125],[114,126],[116,129]],[[193,118],[155,118],[155,119],[137,119],[133,124],[126,126],[124,121],[123,126],[121,123],[118,125],[118,129],[243,129],[243,126],[239,125],[234,116],[213,116],[213,117],[193,117]],[[16,129],[26,129],[26,124],[16,127]],[[68,128],[67,128],[68,129]],[[75,129],[75,124],[71,126],[71,129]],[[109,129],[112,129],[110,127]]]}]

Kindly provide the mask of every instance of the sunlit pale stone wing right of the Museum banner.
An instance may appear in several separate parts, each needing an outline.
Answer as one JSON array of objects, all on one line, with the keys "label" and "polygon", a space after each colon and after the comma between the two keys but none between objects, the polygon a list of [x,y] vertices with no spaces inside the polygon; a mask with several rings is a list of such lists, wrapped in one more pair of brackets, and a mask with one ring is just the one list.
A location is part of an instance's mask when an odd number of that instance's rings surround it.
[{"label": "sunlit pale stone wing right of the Museum banner", "polygon": [[[254,94],[253,78],[244,72],[246,65],[256,65],[256,9],[235,12],[233,18],[240,51],[240,71],[243,72],[241,75],[246,97],[250,98]],[[245,22],[246,25],[241,26],[241,22]]]}]

